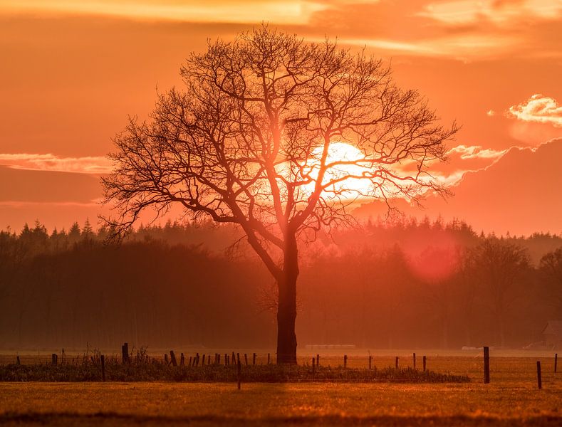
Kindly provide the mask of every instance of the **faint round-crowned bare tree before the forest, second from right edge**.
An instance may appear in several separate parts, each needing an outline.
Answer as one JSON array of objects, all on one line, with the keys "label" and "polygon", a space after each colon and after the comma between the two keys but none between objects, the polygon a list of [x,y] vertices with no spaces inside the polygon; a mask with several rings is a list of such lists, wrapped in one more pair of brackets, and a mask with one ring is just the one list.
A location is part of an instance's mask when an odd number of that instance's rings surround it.
[{"label": "faint round-crowned bare tree before the forest, second from right edge", "polygon": [[505,345],[506,315],[520,296],[524,273],[529,268],[529,254],[521,246],[496,237],[486,238],[472,250],[474,277],[479,280],[496,321],[501,346]]}]

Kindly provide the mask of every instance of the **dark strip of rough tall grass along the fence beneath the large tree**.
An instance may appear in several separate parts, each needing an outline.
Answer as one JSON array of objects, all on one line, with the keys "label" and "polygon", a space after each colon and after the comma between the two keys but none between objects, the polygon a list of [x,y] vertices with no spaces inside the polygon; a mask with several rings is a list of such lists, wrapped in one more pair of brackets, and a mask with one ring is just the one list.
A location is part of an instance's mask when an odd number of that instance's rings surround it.
[{"label": "dark strip of rough tall grass along the fence beneath the large tree", "polygon": [[[139,352],[129,363],[123,364],[117,357],[105,358],[106,381],[187,381],[187,382],[234,382],[237,380],[236,365],[205,364],[204,366],[177,366],[153,359]],[[102,381],[100,357],[95,352],[90,357],[66,359],[56,366],[40,364],[0,365],[0,381]],[[405,383],[460,383],[468,382],[468,376],[384,368],[357,369],[343,367],[283,366],[256,364],[241,366],[243,382],[308,382],[308,381],[389,381]]]}]

